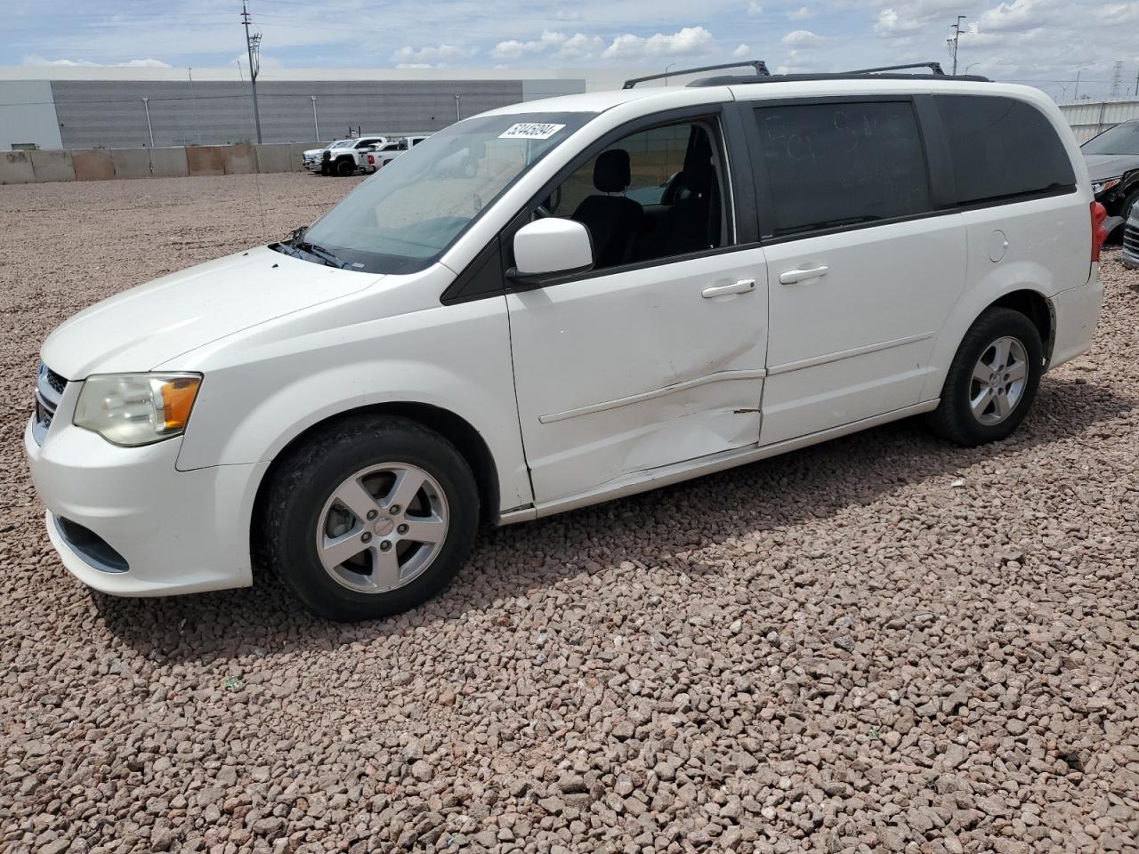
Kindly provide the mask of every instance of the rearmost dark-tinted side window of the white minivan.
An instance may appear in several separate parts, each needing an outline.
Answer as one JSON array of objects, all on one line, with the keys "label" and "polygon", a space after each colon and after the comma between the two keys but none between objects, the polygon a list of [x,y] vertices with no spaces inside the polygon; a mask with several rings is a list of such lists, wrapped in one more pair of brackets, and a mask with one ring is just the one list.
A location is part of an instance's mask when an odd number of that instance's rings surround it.
[{"label": "rearmost dark-tinted side window of the white minivan", "polygon": [[961,204],[1062,192],[1075,187],[1052,123],[1011,98],[935,96]]}]

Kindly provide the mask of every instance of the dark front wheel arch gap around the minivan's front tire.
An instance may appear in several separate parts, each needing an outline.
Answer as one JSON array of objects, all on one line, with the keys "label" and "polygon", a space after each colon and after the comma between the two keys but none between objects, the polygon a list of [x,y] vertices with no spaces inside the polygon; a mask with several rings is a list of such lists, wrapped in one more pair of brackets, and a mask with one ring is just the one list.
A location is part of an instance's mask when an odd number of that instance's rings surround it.
[{"label": "dark front wheel arch gap around the minivan's front tire", "polygon": [[272,487],[273,476],[282,465],[282,460],[288,457],[289,451],[304,444],[313,436],[314,433],[327,428],[336,421],[360,414],[396,416],[400,418],[407,418],[408,420],[435,430],[451,442],[458,449],[459,453],[462,454],[467,465],[470,466],[470,470],[475,475],[475,483],[478,487],[478,500],[482,504],[483,518],[491,523],[495,523],[498,520],[500,494],[498,466],[494,462],[494,458],[491,454],[486,441],[469,421],[450,410],[434,407],[428,403],[375,403],[343,410],[309,425],[305,429],[290,438],[288,443],[286,443],[285,446],[273,455],[273,460],[262,476],[261,483],[257,484],[256,495],[253,500],[253,511],[251,515],[253,524],[249,525],[249,549],[251,553],[254,556],[254,565],[259,563],[257,533],[261,528],[260,520],[263,518],[264,506]]}]

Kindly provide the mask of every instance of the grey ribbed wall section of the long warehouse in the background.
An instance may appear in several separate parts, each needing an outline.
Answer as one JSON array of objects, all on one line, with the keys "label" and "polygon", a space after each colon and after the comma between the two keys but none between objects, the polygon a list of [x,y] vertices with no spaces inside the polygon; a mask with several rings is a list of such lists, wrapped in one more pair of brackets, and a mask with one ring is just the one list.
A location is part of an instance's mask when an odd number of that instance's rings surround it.
[{"label": "grey ribbed wall section of the long warehouse in the background", "polygon": [[[248,142],[256,139],[249,87],[188,80],[55,80],[49,97],[58,114],[63,148],[141,148]],[[263,82],[257,84],[265,142],[338,139],[349,129],[442,130],[523,99],[585,90],[584,80],[360,80]],[[459,96],[458,104],[454,96]],[[317,98],[313,120],[312,96]],[[144,106],[142,99],[147,98]],[[456,109],[458,107],[458,110]],[[147,108],[150,129],[147,128]]]}]

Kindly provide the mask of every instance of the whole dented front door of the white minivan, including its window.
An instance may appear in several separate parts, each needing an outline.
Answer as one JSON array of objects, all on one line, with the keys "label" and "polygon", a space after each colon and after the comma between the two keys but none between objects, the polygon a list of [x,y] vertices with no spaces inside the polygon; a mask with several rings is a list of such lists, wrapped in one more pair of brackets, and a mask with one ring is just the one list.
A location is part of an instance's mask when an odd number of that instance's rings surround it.
[{"label": "whole dented front door of the white minivan, including its window", "polygon": [[[730,200],[744,190],[729,184],[738,173],[728,164],[718,115],[658,124],[618,134],[564,178],[552,210],[541,208],[583,222],[605,262],[534,289],[508,287],[539,503],[757,443],[767,266],[757,245],[737,238]],[[685,190],[669,204],[653,188],[677,172],[687,172]]]}]

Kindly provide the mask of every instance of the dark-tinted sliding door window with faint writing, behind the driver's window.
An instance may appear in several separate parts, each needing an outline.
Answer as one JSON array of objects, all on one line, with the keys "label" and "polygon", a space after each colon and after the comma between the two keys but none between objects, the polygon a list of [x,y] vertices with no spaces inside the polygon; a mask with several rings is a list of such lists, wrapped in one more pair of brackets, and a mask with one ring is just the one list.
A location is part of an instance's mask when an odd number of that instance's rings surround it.
[{"label": "dark-tinted sliding door window with faint writing, behind the driver's window", "polygon": [[777,237],[929,210],[909,101],[776,105],[755,120]]}]

